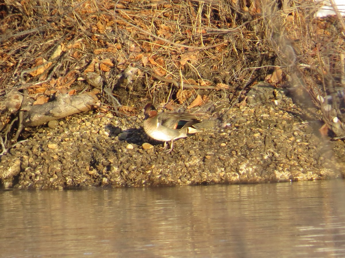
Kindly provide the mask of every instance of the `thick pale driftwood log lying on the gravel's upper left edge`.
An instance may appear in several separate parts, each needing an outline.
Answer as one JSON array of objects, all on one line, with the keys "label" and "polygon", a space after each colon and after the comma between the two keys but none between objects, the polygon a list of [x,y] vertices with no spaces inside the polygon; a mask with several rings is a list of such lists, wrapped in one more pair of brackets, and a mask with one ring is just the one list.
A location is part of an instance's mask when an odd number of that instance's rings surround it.
[{"label": "thick pale driftwood log lying on the gravel's upper left edge", "polygon": [[61,94],[54,101],[32,106],[24,113],[23,125],[39,126],[51,120],[84,112],[95,106],[97,101],[96,94],[92,92],[75,96]]}]

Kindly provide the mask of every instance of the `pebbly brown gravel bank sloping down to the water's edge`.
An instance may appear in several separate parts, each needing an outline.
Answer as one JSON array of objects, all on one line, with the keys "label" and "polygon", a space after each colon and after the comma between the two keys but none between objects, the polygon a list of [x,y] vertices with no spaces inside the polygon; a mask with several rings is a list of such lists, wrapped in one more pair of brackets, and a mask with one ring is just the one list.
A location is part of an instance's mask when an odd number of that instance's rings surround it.
[{"label": "pebbly brown gravel bank sloping down to the water's edge", "polygon": [[[0,182],[17,188],[124,187],[315,180],[344,173],[344,142],[321,140],[286,96],[229,108],[220,102],[202,115],[203,131],[176,140],[170,154],[145,135],[140,114],[79,114],[40,128],[3,155]],[[145,142],[153,148],[143,149]]]}]

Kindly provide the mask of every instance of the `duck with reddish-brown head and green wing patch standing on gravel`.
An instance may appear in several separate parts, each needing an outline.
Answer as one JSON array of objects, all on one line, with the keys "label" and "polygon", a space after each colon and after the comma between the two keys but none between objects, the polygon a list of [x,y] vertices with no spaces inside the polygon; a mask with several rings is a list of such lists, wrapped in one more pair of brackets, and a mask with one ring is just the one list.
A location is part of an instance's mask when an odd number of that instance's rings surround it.
[{"label": "duck with reddish-brown head and green wing patch standing on gravel", "polygon": [[170,153],[174,147],[174,140],[186,138],[188,135],[200,132],[194,127],[201,121],[196,116],[186,112],[160,112],[158,113],[152,103],[148,103],[144,108],[143,129],[152,139],[164,141],[164,148],[170,141],[170,149],[165,150]]}]

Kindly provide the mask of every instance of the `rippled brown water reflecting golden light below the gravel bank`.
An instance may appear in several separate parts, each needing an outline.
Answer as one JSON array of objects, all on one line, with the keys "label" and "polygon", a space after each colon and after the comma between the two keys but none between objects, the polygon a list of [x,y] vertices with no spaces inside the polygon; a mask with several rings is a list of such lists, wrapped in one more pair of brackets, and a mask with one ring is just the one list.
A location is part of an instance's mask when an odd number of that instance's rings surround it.
[{"label": "rippled brown water reflecting golden light below the gravel bank", "polygon": [[0,191],[0,257],[344,257],[344,197],[344,181]]}]

